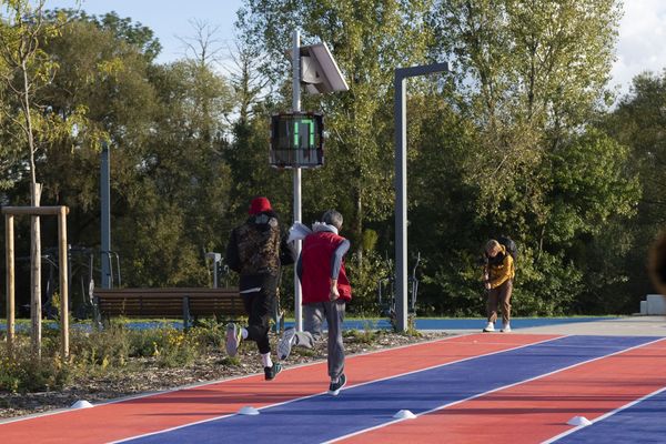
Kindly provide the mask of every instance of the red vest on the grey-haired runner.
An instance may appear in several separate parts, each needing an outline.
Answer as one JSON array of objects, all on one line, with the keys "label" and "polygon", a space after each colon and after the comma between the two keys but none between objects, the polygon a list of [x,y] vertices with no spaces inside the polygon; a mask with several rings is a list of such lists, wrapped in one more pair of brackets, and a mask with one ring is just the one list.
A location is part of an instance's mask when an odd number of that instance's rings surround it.
[{"label": "red vest on the grey-haired runner", "polygon": [[[330,301],[331,260],[342,241],[344,241],[344,238],[327,231],[307,234],[303,241],[301,252],[303,304]],[[337,276],[337,291],[340,297],[345,302],[352,300],[352,286],[344,270],[344,260]]]}]

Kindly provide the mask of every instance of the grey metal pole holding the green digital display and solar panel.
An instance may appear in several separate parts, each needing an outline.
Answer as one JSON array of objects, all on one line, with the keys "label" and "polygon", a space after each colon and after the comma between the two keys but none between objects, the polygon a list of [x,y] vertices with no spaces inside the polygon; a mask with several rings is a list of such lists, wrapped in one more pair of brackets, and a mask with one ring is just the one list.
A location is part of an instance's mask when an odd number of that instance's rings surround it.
[{"label": "grey metal pole holding the green digital display and solar panel", "polygon": [[[292,111],[301,112],[301,36],[294,31],[292,36]],[[294,168],[294,222],[302,222],[301,218],[301,169]],[[301,254],[301,241],[296,241],[296,258]],[[294,266],[294,317],[296,332],[303,331],[303,315],[301,309],[301,282]]]}]

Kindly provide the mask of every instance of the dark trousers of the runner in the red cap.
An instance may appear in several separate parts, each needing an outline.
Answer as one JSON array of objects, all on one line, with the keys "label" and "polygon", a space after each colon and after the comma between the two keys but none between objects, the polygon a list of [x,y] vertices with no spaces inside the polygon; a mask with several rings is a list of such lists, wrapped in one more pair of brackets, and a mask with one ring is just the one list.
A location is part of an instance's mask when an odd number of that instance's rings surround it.
[{"label": "dark trousers of the runner in the red cap", "polygon": [[[269,329],[278,291],[278,278],[265,275],[259,282],[254,281],[253,283],[261,290],[242,293],[243,305],[245,306],[245,313],[248,313],[248,340],[256,342],[259,353],[264,354],[271,352]],[[241,291],[243,291],[243,287],[245,285],[241,282]]]}]

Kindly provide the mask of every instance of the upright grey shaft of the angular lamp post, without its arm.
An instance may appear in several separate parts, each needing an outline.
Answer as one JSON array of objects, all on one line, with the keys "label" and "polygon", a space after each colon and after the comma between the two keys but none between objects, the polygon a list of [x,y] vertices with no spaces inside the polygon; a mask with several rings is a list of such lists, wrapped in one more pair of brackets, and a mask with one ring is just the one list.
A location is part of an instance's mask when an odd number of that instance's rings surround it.
[{"label": "upright grey shaft of the angular lamp post, without its arm", "polygon": [[405,78],[395,71],[395,320],[407,330],[407,132]]}]

